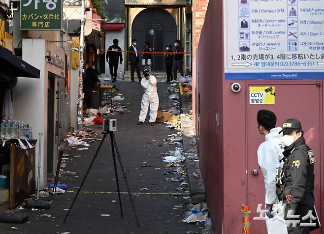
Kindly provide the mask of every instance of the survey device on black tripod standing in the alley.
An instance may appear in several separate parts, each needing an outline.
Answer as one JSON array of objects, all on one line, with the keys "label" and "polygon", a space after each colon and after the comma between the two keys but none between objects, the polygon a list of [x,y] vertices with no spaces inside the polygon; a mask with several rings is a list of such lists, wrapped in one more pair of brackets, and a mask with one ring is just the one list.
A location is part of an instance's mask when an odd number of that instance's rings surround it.
[{"label": "survey device on black tripod standing in the alley", "polygon": [[[64,223],[67,219],[67,216],[69,215],[81,189],[82,189],[82,186],[84,184],[84,181],[86,180],[86,178],[88,177],[89,175],[89,172],[91,170],[91,167],[92,165],[94,164],[97,156],[98,156],[98,153],[99,153],[99,150],[104,142],[104,140],[106,139],[107,137],[107,134],[109,133],[109,136],[110,136],[110,143],[111,143],[111,152],[112,152],[112,158],[113,158],[113,163],[114,163],[114,169],[115,169],[115,176],[116,176],[116,183],[117,183],[117,190],[118,190],[118,198],[119,198],[119,206],[120,206],[120,211],[121,211],[121,215],[123,217],[123,209],[122,209],[122,201],[121,201],[121,198],[120,198],[120,189],[119,189],[119,182],[118,182],[118,174],[117,174],[117,165],[116,165],[116,155],[117,155],[117,159],[119,161],[119,165],[120,165],[120,168],[121,168],[121,171],[123,173],[123,178],[125,180],[125,184],[126,184],[126,188],[127,188],[127,192],[128,192],[128,195],[130,197],[130,204],[131,204],[131,208],[134,212],[134,216],[135,216],[135,220],[136,220],[136,223],[137,223],[137,227],[139,227],[139,222],[138,222],[138,218],[137,218],[137,215],[136,215],[136,210],[135,210],[135,206],[134,206],[134,202],[132,200],[132,197],[131,197],[131,194],[130,194],[130,186],[127,182],[127,178],[126,178],[126,173],[125,173],[125,170],[124,170],[124,166],[123,166],[123,163],[122,163],[122,159],[120,157],[120,154],[119,154],[119,150],[118,150],[118,147],[117,147],[117,143],[116,143],[116,140],[115,140],[115,135],[114,135],[114,131],[117,130],[117,121],[116,119],[104,119],[104,122],[103,122],[103,129],[105,130],[105,132],[103,133],[103,136],[102,136],[102,140],[97,148],[97,151],[94,155],[94,157],[92,158],[91,162],[90,162],[90,165],[88,167],[88,170],[86,172],[86,174],[84,175],[84,178],[81,182],[81,185],[79,186],[79,189],[73,199],[73,202],[70,206],[70,208],[68,209],[67,211],[67,214],[65,215],[65,219],[64,219]],[[107,130],[108,129],[108,130]]]}]

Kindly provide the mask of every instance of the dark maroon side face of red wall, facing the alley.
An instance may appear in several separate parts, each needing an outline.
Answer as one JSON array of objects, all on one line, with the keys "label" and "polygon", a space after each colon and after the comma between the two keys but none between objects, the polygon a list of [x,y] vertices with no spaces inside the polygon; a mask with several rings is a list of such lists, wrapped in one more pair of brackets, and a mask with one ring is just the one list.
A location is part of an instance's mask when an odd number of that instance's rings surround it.
[{"label": "dark maroon side face of red wall, facing the alley", "polygon": [[[222,0],[210,0],[197,51],[196,135],[214,231],[222,233],[223,184],[223,29]],[[214,22],[218,22],[215,24]],[[199,110],[200,109],[200,110]]]}]

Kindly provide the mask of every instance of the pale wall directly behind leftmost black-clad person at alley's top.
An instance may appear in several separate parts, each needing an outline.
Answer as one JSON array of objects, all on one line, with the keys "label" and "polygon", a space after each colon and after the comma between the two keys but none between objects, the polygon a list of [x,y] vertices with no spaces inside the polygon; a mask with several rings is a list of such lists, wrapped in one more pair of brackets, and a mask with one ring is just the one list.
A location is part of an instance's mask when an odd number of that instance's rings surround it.
[{"label": "pale wall directly behind leftmost black-clad person at alley's top", "polygon": [[[106,31],[105,49],[108,50],[109,46],[113,45],[112,40],[115,38],[118,39],[118,41],[119,41],[118,45],[122,49],[122,51],[126,51],[128,46],[125,45],[125,29],[123,29],[121,31]],[[105,53],[107,53],[107,52],[105,52]],[[125,62],[127,62],[127,59],[125,58],[125,56],[127,56],[127,54],[123,53],[123,64],[118,65],[117,79],[120,79],[120,77],[119,77],[120,72],[122,72],[122,74],[124,74],[124,65],[125,65]],[[110,77],[108,62],[105,62],[105,74],[107,77]]]}]

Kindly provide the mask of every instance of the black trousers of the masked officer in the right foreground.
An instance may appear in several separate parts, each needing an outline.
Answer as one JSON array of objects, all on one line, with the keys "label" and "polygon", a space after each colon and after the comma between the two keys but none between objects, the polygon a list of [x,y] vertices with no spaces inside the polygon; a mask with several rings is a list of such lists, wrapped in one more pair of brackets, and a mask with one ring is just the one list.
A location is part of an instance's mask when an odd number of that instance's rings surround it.
[{"label": "black trousers of the masked officer in the right foreground", "polygon": [[[313,210],[313,206],[312,205],[298,205],[296,211],[295,211],[295,215],[299,214],[299,219],[292,219],[292,218],[287,218],[287,213],[288,210],[290,209],[290,205],[287,204],[286,205],[286,209],[285,209],[285,219],[286,220],[299,220],[299,224],[297,224],[297,227],[292,228],[292,224],[290,225],[290,227],[287,227],[287,231],[288,234],[309,234],[310,233],[310,227],[300,227],[301,223],[310,223],[310,219],[306,219],[306,220],[302,220],[302,217],[305,216],[309,210]],[[314,223],[314,221],[313,221]]]}]

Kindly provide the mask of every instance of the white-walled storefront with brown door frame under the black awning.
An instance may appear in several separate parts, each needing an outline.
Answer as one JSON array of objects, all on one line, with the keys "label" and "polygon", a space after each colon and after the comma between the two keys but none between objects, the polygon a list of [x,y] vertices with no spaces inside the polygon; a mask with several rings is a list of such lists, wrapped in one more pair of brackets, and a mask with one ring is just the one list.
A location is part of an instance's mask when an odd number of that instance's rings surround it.
[{"label": "white-walled storefront with brown door frame under the black awning", "polygon": [[[18,78],[13,90],[13,113],[14,118],[30,124],[33,138],[38,140],[38,134],[43,133],[39,184],[43,188],[47,175],[54,173],[62,137],[59,125],[65,114],[60,102],[61,92],[66,87],[66,56],[63,48],[44,39],[23,39],[22,43],[23,59],[40,70],[40,79]],[[38,150],[36,164],[37,158]]]}]

